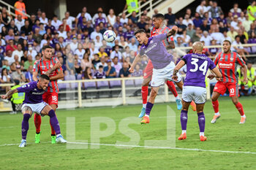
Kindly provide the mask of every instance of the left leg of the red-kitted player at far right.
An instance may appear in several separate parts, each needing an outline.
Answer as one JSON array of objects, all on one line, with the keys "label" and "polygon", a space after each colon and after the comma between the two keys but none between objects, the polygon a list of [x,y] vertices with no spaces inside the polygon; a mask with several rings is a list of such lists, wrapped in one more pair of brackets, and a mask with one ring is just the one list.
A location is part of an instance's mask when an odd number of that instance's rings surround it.
[{"label": "left leg of the red-kitted player at far right", "polygon": [[214,107],[214,117],[211,120],[211,123],[216,123],[217,119],[219,119],[219,101],[218,98],[222,94],[226,92],[226,85],[223,82],[217,82],[214,86],[214,92],[211,95],[211,104]]}]

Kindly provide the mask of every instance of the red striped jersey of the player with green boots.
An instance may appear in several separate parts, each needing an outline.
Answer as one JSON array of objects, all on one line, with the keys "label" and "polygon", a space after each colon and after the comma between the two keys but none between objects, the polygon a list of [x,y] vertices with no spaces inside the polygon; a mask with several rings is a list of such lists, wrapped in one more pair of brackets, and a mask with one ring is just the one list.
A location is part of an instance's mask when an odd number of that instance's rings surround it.
[{"label": "red striped jersey of the player with green boots", "polygon": [[[58,62],[58,58],[51,58],[50,61],[43,61],[43,59],[41,58],[40,60],[34,62],[33,72],[37,72],[39,75],[45,74],[45,72],[47,72],[51,67],[53,67]],[[62,72],[62,68],[53,71],[50,74],[50,77],[56,76],[57,72]],[[50,81],[47,92],[59,93],[57,80]]]}]

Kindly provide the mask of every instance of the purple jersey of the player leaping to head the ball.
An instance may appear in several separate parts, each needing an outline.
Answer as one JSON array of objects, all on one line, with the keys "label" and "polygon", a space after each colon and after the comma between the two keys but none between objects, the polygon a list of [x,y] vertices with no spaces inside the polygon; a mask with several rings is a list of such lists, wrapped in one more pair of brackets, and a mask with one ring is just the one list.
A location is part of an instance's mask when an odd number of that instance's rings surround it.
[{"label": "purple jersey of the player leaping to head the ball", "polygon": [[140,47],[140,55],[147,55],[151,59],[154,69],[163,69],[173,60],[173,55],[167,52],[162,40],[166,34],[159,34],[148,38],[148,44]]}]

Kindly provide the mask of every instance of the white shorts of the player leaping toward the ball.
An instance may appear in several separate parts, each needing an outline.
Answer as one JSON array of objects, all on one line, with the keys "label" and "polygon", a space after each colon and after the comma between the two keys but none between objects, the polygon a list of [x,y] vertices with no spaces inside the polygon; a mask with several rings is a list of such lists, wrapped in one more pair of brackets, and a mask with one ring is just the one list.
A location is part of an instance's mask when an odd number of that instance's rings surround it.
[{"label": "white shorts of the player leaping toward the ball", "polygon": [[165,80],[170,80],[173,82],[180,82],[182,77],[179,73],[177,73],[178,80],[174,81],[172,79],[173,69],[175,68],[175,64],[171,61],[165,68],[163,69],[153,69],[151,87],[159,87],[165,83]]}]

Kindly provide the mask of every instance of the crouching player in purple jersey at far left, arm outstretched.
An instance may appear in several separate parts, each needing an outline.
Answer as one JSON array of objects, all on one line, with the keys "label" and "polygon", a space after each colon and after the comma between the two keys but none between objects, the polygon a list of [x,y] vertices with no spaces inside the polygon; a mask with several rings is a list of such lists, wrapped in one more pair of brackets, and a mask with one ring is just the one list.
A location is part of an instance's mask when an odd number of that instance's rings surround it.
[{"label": "crouching player in purple jersey at far left, arm outstretched", "polygon": [[59,127],[59,121],[56,117],[54,110],[42,101],[42,94],[45,93],[45,90],[48,88],[50,78],[42,74],[39,76],[38,81],[29,82],[26,85],[23,85],[20,88],[16,88],[7,92],[6,95],[1,96],[3,99],[10,98],[14,93],[23,93],[25,92],[25,100],[21,107],[23,113],[23,121],[21,123],[21,135],[22,140],[19,147],[26,147],[26,134],[29,130],[29,118],[36,112],[37,115],[50,117],[50,124],[53,126],[56,131],[56,142],[67,143],[67,141],[61,136],[61,129]]}]

